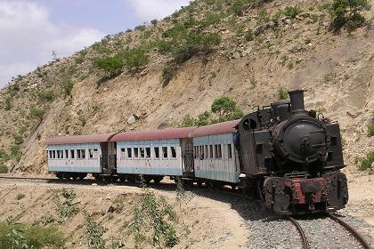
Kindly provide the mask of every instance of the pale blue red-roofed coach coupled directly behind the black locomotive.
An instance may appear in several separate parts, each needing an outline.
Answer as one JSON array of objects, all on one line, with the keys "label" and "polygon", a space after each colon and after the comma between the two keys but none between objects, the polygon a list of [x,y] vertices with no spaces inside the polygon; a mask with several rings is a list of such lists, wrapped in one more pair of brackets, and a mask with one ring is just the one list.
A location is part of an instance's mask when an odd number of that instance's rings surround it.
[{"label": "pale blue red-roofed coach coupled directly behind the black locomotive", "polygon": [[233,144],[238,120],[200,126],[189,137],[193,141],[194,173],[199,181],[239,182],[239,156]]}]

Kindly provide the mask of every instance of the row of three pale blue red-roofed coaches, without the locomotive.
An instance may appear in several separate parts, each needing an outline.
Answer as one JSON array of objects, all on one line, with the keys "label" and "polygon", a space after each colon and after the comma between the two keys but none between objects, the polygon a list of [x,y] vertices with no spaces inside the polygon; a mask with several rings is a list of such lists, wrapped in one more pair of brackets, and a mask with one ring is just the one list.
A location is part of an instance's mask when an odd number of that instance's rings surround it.
[{"label": "row of three pale blue red-roofed coaches, without the locomotive", "polygon": [[158,131],[56,137],[45,141],[48,171],[60,179],[159,183],[181,177],[212,187],[239,182],[239,155],[232,142],[239,121]]}]

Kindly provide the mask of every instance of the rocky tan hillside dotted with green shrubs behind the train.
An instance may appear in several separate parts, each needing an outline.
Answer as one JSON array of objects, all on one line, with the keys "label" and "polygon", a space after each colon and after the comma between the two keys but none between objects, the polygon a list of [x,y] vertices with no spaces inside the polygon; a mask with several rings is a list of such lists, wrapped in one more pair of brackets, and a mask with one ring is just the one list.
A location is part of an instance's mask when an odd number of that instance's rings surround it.
[{"label": "rocky tan hillside dotted with green shrubs behind the train", "polygon": [[303,88],[341,124],[353,172],[374,148],[374,1],[353,31],[331,28],[329,4],[198,0],[18,76],[0,91],[0,164],[46,173],[51,136],[172,127],[222,95],[250,112]]}]

